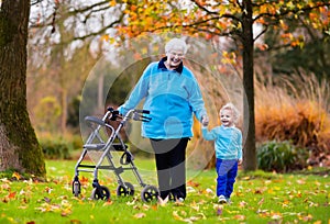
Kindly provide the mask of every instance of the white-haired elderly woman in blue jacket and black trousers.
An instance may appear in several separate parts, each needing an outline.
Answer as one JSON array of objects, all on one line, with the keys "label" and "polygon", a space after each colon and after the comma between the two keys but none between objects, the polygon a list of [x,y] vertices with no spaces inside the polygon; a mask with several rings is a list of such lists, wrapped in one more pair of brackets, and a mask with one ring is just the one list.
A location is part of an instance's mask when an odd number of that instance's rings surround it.
[{"label": "white-haired elderly woman in blue jacket and black trousers", "polygon": [[166,57],[151,63],[119,112],[125,114],[145,99],[151,122],[142,124],[142,136],[155,153],[161,198],[186,199],[186,147],[193,137],[193,114],[208,123],[202,96],[194,74],[184,66],[187,45],[173,38],[165,45]]}]

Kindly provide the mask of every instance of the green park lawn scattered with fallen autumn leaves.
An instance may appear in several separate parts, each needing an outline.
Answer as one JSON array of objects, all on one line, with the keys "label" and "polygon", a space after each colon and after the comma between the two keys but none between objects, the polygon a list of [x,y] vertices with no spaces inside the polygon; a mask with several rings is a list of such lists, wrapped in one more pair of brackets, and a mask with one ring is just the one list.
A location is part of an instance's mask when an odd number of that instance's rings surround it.
[{"label": "green park lawn scattered with fallen autumn leaves", "polygon": [[[153,160],[135,159],[145,182],[156,184]],[[116,195],[116,178],[100,173],[111,200],[90,200],[91,173],[80,173],[82,192],[72,192],[76,161],[47,160],[47,181],[0,181],[0,223],[330,223],[328,175],[239,172],[232,204],[215,198],[215,170],[188,171],[188,197],[184,203],[143,203],[141,187],[131,173],[133,197]],[[127,171],[129,172],[129,171]]]}]

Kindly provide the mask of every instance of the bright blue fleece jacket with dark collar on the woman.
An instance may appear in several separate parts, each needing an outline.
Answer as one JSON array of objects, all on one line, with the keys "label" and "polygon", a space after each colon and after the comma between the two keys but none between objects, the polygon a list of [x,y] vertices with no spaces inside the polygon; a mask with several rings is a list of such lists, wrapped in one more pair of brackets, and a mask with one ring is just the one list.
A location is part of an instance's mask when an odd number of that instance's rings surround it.
[{"label": "bright blue fleece jacket with dark collar on the woman", "polygon": [[180,64],[166,69],[164,61],[151,63],[119,112],[125,114],[144,99],[144,110],[151,121],[143,122],[142,136],[148,138],[182,138],[193,136],[193,113],[200,121],[206,115],[205,103],[193,72]]}]

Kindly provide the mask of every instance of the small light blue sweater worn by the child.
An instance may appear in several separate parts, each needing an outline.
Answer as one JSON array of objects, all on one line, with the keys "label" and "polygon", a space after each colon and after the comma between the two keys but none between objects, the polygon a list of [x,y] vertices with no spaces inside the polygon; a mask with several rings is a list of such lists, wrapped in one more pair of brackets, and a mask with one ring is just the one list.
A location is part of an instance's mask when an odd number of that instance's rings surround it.
[{"label": "small light blue sweater worn by the child", "polygon": [[242,159],[242,132],[234,127],[217,126],[208,132],[201,128],[202,137],[215,141],[216,157],[219,159]]}]

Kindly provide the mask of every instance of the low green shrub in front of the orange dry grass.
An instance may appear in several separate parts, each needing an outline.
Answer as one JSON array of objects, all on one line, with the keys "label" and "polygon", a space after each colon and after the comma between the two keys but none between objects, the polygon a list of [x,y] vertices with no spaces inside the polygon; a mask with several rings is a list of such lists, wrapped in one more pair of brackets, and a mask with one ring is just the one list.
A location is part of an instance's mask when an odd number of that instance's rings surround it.
[{"label": "low green shrub in front of the orange dry grass", "polygon": [[290,142],[271,141],[257,148],[257,166],[264,171],[287,172],[306,167],[307,150]]}]

